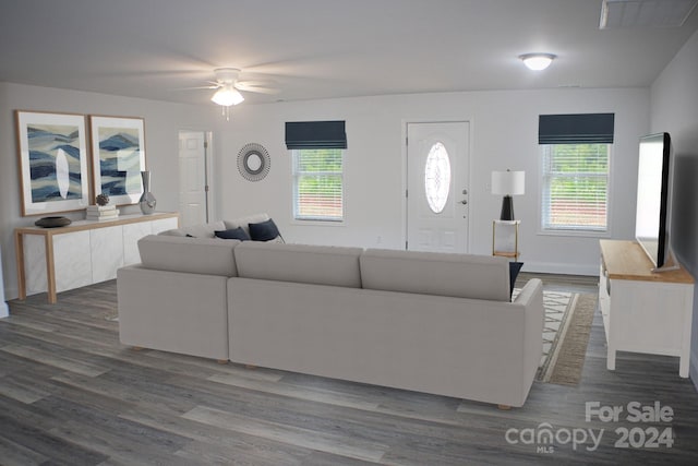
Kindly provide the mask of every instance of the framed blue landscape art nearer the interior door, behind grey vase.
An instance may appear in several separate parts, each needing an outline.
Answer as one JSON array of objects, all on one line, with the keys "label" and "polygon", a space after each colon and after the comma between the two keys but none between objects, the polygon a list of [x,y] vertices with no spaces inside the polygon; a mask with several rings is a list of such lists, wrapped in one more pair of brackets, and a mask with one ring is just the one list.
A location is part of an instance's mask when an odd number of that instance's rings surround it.
[{"label": "framed blue landscape art nearer the interior door, behind grey vase", "polygon": [[139,202],[145,170],[144,124],[143,118],[89,117],[95,195],[107,194],[117,205]]}]

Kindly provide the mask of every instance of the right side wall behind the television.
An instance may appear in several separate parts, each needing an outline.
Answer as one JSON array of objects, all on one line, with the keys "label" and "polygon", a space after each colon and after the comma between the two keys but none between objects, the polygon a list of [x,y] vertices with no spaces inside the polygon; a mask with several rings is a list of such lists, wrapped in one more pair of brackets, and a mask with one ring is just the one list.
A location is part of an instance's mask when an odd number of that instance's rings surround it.
[{"label": "right side wall behind the television", "polygon": [[[666,131],[674,147],[672,246],[698,277],[698,33],[684,45],[651,88],[651,128]],[[698,290],[694,289],[690,377],[698,387]]]}]

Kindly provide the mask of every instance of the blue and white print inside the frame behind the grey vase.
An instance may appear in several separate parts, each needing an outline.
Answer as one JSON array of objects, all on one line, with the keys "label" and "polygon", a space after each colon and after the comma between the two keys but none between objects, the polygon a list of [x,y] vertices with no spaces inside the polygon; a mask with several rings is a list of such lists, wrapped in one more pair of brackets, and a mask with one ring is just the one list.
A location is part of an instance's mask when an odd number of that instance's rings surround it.
[{"label": "blue and white print inside the frame behind the grey vase", "polygon": [[101,192],[134,194],[141,188],[141,146],[134,128],[99,128]]}]

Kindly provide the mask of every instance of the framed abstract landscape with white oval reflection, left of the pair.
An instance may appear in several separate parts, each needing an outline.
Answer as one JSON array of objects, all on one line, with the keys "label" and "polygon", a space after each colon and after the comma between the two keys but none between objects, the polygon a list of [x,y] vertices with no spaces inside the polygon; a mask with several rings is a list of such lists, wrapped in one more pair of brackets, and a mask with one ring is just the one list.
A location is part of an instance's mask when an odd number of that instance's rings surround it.
[{"label": "framed abstract landscape with white oval reflection, left of the pair", "polygon": [[22,215],[85,208],[89,204],[85,117],[15,111]]}]

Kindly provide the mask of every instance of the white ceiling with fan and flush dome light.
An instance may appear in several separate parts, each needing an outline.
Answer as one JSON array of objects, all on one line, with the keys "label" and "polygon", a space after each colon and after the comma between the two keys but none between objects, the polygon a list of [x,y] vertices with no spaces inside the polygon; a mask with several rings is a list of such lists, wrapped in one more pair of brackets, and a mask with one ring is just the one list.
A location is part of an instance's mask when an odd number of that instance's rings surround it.
[{"label": "white ceiling with fan and flush dome light", "polygon": [[[601,0],[0,0],[0,81],[169,101],[234,67],[248,103],[649,86],[698,28],[599,28]],[[544,72],[518,56],[558,56]],[[698,59],[698,58],[697,58]],[[214,104],[210,104],[214,105]],[[244,104],[243,104],[244,105]]]}]

